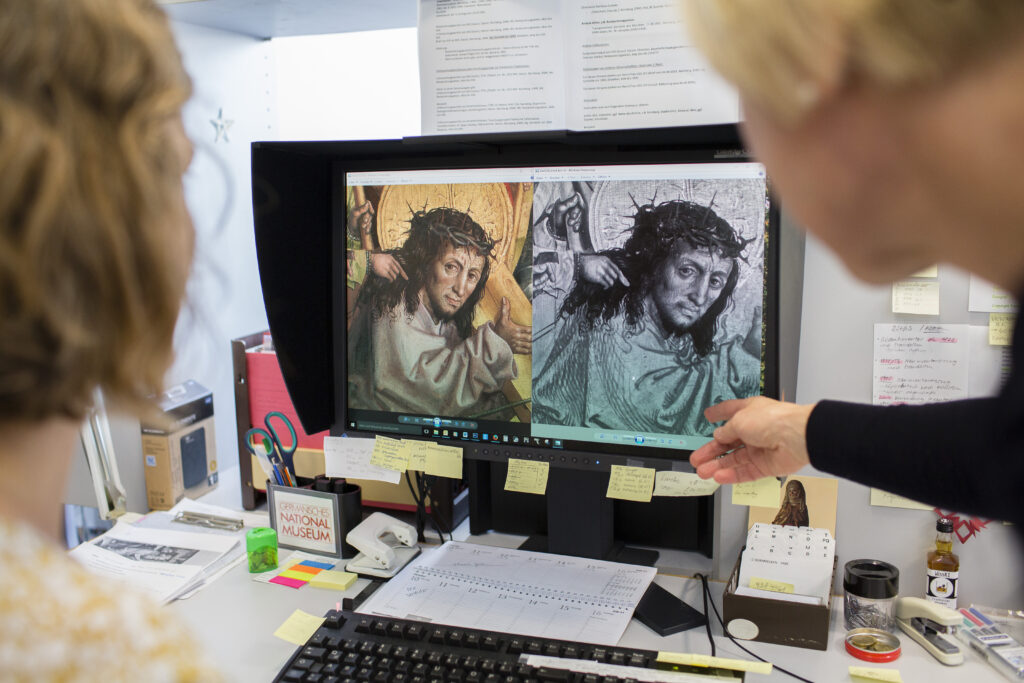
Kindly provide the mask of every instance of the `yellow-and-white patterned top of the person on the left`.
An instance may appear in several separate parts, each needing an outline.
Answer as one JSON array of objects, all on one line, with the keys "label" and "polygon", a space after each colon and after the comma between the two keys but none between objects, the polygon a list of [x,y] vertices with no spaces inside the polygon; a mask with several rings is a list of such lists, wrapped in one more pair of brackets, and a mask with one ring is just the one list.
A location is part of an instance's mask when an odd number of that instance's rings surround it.
[{"label": "yellow-and-white patterned top of the person on the left", "polygon": [[0,519],[0,679],[222,681],[184,624]]}]

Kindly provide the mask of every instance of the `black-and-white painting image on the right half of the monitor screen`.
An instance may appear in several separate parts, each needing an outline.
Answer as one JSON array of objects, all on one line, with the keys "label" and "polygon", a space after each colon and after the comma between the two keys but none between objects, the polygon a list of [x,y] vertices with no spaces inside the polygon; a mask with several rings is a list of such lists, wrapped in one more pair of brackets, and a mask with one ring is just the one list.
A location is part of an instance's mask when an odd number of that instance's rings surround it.
[{"label": "black-and-white painting image on the right half of the monitor screen", "polygon": [[710,435],[761,390],[763,178],[539,183],[534,422]]}]

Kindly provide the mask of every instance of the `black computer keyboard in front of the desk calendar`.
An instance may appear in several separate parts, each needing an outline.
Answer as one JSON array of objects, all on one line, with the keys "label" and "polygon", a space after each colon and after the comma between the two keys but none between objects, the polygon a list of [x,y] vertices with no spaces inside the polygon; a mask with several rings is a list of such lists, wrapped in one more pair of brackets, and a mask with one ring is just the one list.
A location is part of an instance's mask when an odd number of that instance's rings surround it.
[{"label": "black computer keyboard in front of the desk calendar", "polygon": [[[514,683],[700,681],[657,652],[459,629],[332,609],[274,682]],[[712,673],[705,670],[707,673]],[[721,680],[722,670],[714,670]],[[726,674],[728,676],[728,674]],[[736,675],[741,679],[741,674]]]}]

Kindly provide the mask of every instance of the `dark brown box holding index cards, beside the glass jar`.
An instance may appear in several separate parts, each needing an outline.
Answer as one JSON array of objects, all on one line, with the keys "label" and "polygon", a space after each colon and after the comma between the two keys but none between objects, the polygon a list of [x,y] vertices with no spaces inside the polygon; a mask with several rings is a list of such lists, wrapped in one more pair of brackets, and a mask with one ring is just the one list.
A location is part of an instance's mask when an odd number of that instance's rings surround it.
[{"label": "dark brown box holding index cards, beside the glass jar", "polygon": [[[831,599],[827,605],[811,605],[788,600],[736,595],[741,558],[742,551],[736,558],[736,565],[732,568],[729,583],[726,584],[725,593],[722,595],[722,614],[726,629],[733,620],[746,620],[757,627],[757,635],[750,640],[814,650],[827,649]],[[839,557],[833,561],[833,581],[836,579],[837,562]],[[828,585],[834,584],[829,582]]]}]

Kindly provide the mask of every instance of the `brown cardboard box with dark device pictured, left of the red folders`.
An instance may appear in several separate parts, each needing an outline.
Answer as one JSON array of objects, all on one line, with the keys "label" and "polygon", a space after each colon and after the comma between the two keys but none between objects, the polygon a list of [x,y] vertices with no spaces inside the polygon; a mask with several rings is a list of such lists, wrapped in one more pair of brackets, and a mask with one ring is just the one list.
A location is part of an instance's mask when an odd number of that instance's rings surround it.
[{"label": "brown cardboard box with dark device pictured, left of the red folders", "polygon": [[213,394],[188,380],[160,395],[168,425],[142,427],[145,495],[151,510],[169,510],[217,485]]}]

